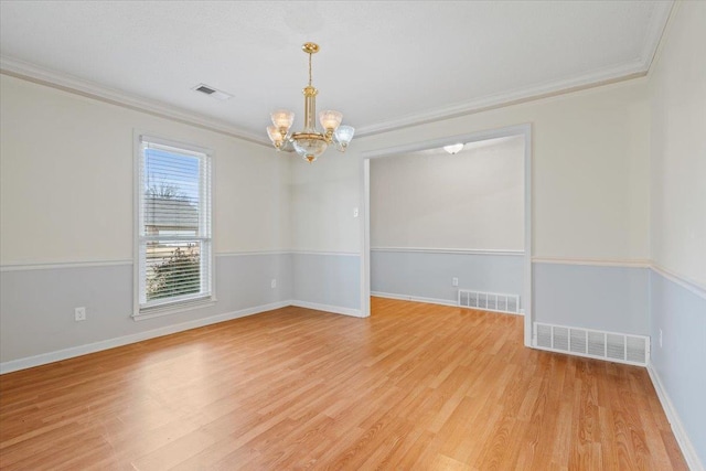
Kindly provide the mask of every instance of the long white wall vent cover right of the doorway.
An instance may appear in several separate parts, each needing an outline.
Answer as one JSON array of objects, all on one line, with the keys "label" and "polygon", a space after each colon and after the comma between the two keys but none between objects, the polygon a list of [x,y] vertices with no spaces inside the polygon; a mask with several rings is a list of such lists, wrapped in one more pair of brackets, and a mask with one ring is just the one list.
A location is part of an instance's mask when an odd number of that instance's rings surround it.
[{"label": "long white wall vent cover right of the doorway", "polygon": [[552,352],[646,366],[650,338],[534,323],[534,346]]}]

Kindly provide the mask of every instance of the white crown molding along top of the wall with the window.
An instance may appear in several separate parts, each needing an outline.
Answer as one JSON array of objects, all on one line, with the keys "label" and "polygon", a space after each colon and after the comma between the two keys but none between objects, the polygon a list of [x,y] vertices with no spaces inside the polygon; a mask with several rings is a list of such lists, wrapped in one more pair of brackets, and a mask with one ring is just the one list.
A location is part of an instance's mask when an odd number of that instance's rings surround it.
[{"label": "white crown molding along top of the wall with the window", "polygon": [[263,136],[237,129],[225,121],[191,113],[162,101],[105,87],[72,75],[61,74],[13,57],[0,56],[0,73],[269,147],[269,142]]}]

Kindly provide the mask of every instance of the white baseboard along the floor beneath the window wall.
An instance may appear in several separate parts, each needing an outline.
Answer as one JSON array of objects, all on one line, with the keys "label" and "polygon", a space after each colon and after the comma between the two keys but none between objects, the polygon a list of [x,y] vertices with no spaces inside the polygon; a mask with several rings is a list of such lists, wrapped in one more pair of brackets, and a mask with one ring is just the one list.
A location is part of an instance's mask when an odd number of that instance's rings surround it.
[{"label": "white baseboard along the floor beneath the window wall", "polygon": [[226,312],[224,314],[212,315],[210,318],[197,319],[194,321],[183,322],[175,325],[167,325],[160,329],[153,329],[146,332],[133,333],[130,335],[118,336],[115,339],[103,340],[99,342],[88,343],[85,345],[71,346],[68,349],[57,350],[55,352],[42,353],[25,358],[11,360],[0,363],[0,374],[17,372],[19,370],[31,368],[34,366],[45,365],[47,363],[60,362],[62,360],[73,358],[75,356],[86,355],[88,353],[100,352],[103,350],[115,349],[116,346],[128,345],[130,343],[142,342],[158,336],[170,335],[176,332],[183,332],[191,329],[211,325],[218,322],[231,321],[233,319],[244,318],[246,315],[258,314],[260,312],[271,311],[274,309],[291,306],[291,301],[272,302],[270,304],[257,306],[254,308],[240,309],[238,311]]}]

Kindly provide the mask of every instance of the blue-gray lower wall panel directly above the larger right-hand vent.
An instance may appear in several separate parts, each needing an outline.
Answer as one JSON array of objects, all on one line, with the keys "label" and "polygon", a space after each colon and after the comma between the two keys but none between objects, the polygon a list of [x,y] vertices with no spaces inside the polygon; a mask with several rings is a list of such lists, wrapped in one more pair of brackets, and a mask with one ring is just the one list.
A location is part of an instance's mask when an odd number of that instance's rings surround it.
[{"label": "blue-gray lower wall panel directly above the larger right-hand vent", "polygon": [[533,263],[535,322],[650,335],[649,268]]}]

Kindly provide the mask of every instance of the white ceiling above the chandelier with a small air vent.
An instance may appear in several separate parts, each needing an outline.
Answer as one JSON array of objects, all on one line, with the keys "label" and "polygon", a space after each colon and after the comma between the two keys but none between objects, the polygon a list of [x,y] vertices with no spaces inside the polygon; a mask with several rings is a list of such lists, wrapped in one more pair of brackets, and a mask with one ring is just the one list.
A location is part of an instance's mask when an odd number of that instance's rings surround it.
[{"label": "white ceiling above the chandelier with a small air vent", "polygon": [[[643,75],[672,1],[10,1],[3,72],[266,142],[318,109],[370,135]],[[233,95],[193,92],[201,83]]]}]

